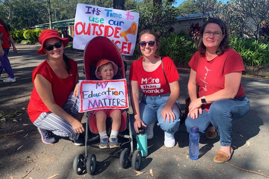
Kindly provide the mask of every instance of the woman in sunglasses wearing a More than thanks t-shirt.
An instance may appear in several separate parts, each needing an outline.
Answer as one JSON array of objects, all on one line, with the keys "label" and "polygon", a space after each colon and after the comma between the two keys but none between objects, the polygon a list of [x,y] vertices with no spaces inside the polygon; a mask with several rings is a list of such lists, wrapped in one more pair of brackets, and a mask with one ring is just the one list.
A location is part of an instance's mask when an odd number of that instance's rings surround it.
[{"label": "woman in sunglasses wearing a More than thanks t-shirt", "polygon": [[[138,133],[138,128],[143,125],[148,128],[147,138],[150,139],[153,137],[154,123],[158,121],[157,125],[164,130],[164,146],[172,148],[180,121],[180,105],[175,103],[179,97],[179,74],[171,58],[155,55],[160,49],[159,38],[160,35],[151,30],[139,33],[138,50],[143,56],[133,62],[129,77],[134,112],[131,117],[134,124],[132,132]],[[143,96],[139,103],[140,90]]]}]

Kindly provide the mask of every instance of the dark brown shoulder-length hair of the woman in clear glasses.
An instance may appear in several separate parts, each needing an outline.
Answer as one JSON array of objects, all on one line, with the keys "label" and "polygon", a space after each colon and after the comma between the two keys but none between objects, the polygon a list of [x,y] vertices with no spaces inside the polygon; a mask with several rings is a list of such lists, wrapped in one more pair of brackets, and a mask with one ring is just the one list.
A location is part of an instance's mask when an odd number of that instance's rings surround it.
[{"label": "dark brown shoulder-length hair of the woman in clear glasses", "polygon": [[224,23],[224,21],[217,18],[217,17],[211,17],[211,18],[208,19],[208,21],[203,23],[203,25],[200,28],[200,37],[199,37],[198,41],[195,44],[196,48],[199,50],[199,52],[200,52],[200,54],[202,56],[206,54],[206,46],[203,44],[203,32],[205,30],[205,27],[209,23],[214,23],[214,24],[217,24],[218,26],[220,26],[222,32],[225,34],[225,36],[223,37],[223,40],[221,41],[218,49],[216,50],[216,54],[221,55],[221,54],[224,53],[225,50],[230,48],[230,45],[229,45],[229,41],[230,41],[229,40],[229,30],[228,30],[228,26]]}]

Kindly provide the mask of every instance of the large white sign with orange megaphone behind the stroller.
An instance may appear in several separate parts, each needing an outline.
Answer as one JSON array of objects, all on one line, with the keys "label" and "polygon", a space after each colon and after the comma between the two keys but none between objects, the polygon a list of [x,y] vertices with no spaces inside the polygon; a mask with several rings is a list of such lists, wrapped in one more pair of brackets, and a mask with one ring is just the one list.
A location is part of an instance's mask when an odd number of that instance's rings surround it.
[{"label": "large white sign with orange megaphone behind the stroller", "polygon": [[77,4],[73,48],[84,50],[96,36],[112,40],[122,55],[133,55],[137,36],[139,13]]}]

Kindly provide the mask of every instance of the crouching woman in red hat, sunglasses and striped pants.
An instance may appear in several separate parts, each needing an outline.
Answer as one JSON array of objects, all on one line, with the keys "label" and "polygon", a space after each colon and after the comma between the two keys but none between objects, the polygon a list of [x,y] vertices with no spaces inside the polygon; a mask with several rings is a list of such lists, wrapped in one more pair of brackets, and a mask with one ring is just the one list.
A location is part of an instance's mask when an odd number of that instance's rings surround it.
[{"label": "crouching woman in red hat, sunglasses and striped pants", "polygon": [[54,134],[69,137],[77,146],[85,145],[81,135],[83,113],[78,113],[77,63],[64,54],[68,38],[46,29],[38,38],[38,54],[47,54],[32,73],[34,88],[27,107],[32,123],[37,126],[44,144],[55,143]]}]

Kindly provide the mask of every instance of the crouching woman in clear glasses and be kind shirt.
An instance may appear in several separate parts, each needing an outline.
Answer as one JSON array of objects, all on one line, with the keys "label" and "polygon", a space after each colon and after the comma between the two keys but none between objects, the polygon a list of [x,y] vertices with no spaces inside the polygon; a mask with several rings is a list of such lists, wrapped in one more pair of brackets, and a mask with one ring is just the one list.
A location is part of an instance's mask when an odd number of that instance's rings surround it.
[{"label": "crouching woman in clear glasses and be kind shirt", "polygon": [[[191,98],[187,131],[198,126],[199,132],[213,139],[220,137],[220,150],[214,162],[230,160],[232,123],[244,118],[250,102],[241,85],[245,71],[242,57],[229,47],[228,27],[223,20],[209,18],[200,28],[198,51],[189,62],[191,67],[188,92]],[[199,98],[197,98],[197,85]]]}]

